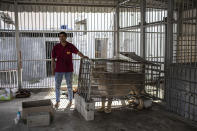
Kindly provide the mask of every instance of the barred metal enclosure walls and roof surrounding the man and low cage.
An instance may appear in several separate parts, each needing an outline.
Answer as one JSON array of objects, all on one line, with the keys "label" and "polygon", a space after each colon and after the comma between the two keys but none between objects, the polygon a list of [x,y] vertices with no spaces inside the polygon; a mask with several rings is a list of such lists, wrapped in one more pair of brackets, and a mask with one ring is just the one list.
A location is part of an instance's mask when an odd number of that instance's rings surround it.
[{"label": "barred metal enclosure walls and roof surrounding the man and low cage", "polygon": [[143,72],[145,91],[197,121],[196,14],[196,0],[2,0],[0,88],[54,89],[51,50],[65,31],[91,59],[133,52],[157,65]]}]

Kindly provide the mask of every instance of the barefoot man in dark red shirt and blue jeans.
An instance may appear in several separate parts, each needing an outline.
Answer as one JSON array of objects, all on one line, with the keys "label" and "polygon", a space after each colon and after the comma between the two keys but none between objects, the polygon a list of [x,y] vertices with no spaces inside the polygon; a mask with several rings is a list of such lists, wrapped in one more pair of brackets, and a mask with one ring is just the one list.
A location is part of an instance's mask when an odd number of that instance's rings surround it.
[{"label": "barefoot man in dark red shirt and blue jeans", "polygon": [[52,50],[52,75],[55,75],[56,108],[59,107],[60,87],[63,76],[65,76],[67,83],[68,99],[70,101],[68,106],[70,107],[72,105],[72,53],[78,54],[82,58],[88,58],[87,56],[84,56],[73,44],[67,42],[66,39],[67,34],[65,32],[60,32],[60,43],[56,44]]}]

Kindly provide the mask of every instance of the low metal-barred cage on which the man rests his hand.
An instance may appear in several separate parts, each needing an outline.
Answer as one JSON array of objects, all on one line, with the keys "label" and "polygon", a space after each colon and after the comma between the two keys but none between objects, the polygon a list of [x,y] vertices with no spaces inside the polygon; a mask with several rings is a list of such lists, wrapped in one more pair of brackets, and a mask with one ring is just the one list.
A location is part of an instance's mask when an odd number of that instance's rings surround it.
[{"label": "low metal-barred cage on which the man rests his hand", "polygon": [[[151,85],[157,66],[148,61],[126,59],[81,59],[78,93],[86,101],[94,98],[108,100],[147,97],[145,87]],[[152,82],[151,82],[152,80]]]}]

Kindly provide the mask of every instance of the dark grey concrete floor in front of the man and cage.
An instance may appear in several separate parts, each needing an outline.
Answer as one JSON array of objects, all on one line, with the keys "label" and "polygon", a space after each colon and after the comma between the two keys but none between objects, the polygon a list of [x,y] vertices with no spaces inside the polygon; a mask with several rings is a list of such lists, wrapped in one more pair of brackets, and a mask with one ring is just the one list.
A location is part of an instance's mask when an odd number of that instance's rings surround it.
[{"label": "dark grey concrete floor in front of the man and cage", "polygon": [[[16,112],[22,101],[47,98],[36,93],[27,99],[14,99],[0,103],[0,131],[196,131],[197,123],[182,120],[154,105],[150,110],[114,110],[111,114],[95,113],[94,121],[85,121],[75,110],[58,110],[54,122],[47,127],[27,128],[14,124]],[[65,105],[65,104],[63,104]],[[63,108],[62,108],[63,109]]]}]

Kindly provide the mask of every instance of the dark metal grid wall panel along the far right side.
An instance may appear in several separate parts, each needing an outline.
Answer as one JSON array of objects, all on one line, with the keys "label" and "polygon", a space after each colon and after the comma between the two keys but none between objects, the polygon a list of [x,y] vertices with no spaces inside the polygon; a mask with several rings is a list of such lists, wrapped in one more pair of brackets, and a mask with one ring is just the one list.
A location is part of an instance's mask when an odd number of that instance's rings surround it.
[{"label": "dark metal grid wall panel along the far right side", "polygon": [[197,121],[197,4],[195,0],[171,1],[168,11],[167,108]]}]

